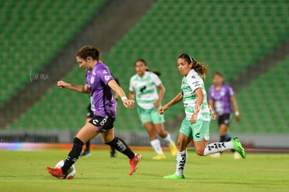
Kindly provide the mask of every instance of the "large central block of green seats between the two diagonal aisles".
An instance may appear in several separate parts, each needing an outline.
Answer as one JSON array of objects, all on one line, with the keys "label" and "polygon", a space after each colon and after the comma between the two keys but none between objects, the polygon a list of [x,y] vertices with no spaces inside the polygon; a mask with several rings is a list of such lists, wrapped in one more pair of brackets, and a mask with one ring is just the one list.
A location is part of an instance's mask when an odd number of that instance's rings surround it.
[{"label": "large central block of green seats between the two diagonal aisles", "polygon": [[[288,11],[286,1],[228,3],[160,0],[103,57],[126,91],[129,78],[135,74],[134,61],[139,58],[147,60],[151,70],[162,73],[161,79],[167,88],[163,101],[165,103],[180,90],[181,75],[175,64],[178,54],[188,52],[209,66],[211,72],[208,74],[207,85],[211,84],[210,77],[214,71],[221,71],[225,74],[226,81],[229,81],[255,59],[271,51],[281,38],[288,37],[284,36],[289,29],[286,19]],[[80,70],[73,69],[64,80],[83,83],[84,72],[82,74],[77,71]],[[243,92],[240,93],[242,94]],[[239,95],[237,99],[239,100]],[[245,98],[240,100],[239,105],[244,105],[241,110],[245,109],[249,104]],[[50,101],[50,105],[47,105],[47,101]],[[79,128],[83,124],[88,101],[85,96],[54,87],[15,121],[12,128]],[[253,113],[254,109],[250,109]],[[166,114],[167,121],[181,112],[181,104],[173,107]],[[258,118],[263,117],[260,115],[255,119]],[[245,119],[246,117],[244,121]],[[31,124],[27,121],[31,121]],[[115,125],[121,130],[143,130],[136,110],[130,112],[121,105],[118,107]],[[247,133],[260,132],[251,127],[253,126],[246,126]],[[243,131],[241,127],[236,129]],[[288,130],[285,131],[288,133]],[[276,133],[276,130],[270,129],[268,132]]]}]

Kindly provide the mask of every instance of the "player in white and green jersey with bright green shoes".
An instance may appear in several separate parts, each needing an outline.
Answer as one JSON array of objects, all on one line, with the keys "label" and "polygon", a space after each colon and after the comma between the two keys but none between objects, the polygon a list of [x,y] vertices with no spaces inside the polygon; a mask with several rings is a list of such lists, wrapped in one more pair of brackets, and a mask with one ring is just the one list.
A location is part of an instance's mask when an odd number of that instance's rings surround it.
[{"label": "player in white and green jersey with bright green shoes", "polygon": [[207,67],[193,59],[189,54],[180,54],[177,58],[177,68],[181,75],[181,93],[169,103],[163,105],[158,110],[163,114],[170,106],[183,101],[186,117],[179,129],[179,140],[177,142],[177,168],[172,175],[163,177],[164,179],[184,179],[184,166],[186,164],[186,147],[193,140],[195,153],[199,156],[207,156],[225,149],[235,149],[246,158],[246,152],[238,138],[233,138],[229,142],[214,142],[208,145],[210,112],[207,103],[207,93],[204,82]]}]

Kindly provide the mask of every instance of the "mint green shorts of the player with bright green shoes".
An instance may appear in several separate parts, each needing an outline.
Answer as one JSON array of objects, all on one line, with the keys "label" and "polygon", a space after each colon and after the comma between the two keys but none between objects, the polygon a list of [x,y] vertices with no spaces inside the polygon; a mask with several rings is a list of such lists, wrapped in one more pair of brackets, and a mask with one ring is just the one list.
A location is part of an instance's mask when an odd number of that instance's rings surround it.
[{"label": "mint green shorts of the player with bright green shoes", "polygon": [[203,138],[209,140],[209,122],[198,119],[195,124],[191,124],[187,118],[184,118],[179,133],[183,133],[194,141],[201,141]]}]

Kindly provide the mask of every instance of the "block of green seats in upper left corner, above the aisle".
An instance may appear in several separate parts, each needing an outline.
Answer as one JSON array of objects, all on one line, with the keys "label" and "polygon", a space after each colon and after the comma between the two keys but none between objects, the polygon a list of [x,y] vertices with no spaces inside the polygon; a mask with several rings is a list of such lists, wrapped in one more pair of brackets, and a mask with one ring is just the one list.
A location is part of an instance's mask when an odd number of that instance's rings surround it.
[{"label": "block of green seats in upper left corner, above the aisle", "polygon": [[0,1],[0,104],[28,82],[29,73],[46,64],[103,1]]}]

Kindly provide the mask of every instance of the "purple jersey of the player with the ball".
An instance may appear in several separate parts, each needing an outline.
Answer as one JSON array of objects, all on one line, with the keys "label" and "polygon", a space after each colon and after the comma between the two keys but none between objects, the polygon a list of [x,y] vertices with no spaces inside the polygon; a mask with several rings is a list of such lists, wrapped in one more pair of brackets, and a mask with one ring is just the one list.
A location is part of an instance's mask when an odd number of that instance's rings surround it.
[{"label": "purple jersey of the player with the ball", "polygon": [[113,79],[108,66],[101,62],[98,62],[92,70],[87,71],[85,83],[91,92],[91,110],[95,116],[116,117],[117,115],[113,90],[108,87],[108,82]]}]

